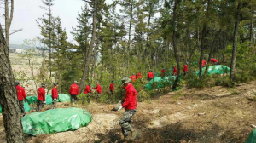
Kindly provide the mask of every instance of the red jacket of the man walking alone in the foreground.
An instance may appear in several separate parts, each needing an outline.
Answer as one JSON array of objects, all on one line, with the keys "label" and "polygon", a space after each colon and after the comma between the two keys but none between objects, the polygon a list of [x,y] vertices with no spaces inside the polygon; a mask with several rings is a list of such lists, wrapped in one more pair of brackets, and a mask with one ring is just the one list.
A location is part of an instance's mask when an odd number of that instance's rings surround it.
[{"label": "red jacket of the man walking alone in the foreground", "polygon": [[125,89],[126,89],[125,99],[122,100],[124,102],[123,107],[129,110],[136,109],[137,108],[136,89],[133,87],[132,83],[128,84],[128,86]]}]

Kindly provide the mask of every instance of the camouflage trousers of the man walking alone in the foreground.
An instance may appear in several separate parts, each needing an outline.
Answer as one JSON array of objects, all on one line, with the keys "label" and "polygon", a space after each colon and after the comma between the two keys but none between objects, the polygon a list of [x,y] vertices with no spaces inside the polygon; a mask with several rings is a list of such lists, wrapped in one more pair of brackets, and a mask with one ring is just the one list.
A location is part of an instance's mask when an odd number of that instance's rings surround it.
[{"label": "camouflage trousers of the man walking alone in the foreground", "polygon": [[122,133],[124,136],[128,136],[129,133],[131,132],[131,117],[136,113],[136,109],[134,110],[125,110],[125,113],[119,120],[119,124],[122,128]]}]

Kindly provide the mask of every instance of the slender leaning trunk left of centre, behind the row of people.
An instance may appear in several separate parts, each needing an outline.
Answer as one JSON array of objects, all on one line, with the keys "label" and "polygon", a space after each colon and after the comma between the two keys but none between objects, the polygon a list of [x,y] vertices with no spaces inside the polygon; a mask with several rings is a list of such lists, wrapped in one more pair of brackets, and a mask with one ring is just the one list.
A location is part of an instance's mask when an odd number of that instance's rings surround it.
[{"label": "slender leaning trunk left of centre, behind the row of people", "polygon": [[90,57],[92,53],[92,49],[94,47],[95,43],[95,37],[96,37],[96,14],[97,14],[97,0],[94,0],[93,3],[93,27],[92,27],[92,33],[91,33],[91,40],[90,40],[90,49],[88,50],[88,54],[85,55],[85,62],[84,62],[84,72],[83,72],[83,77],[81,79],[80,85],[79,85],[79,93],[81,94],[83,89],[84,89],[84,83],[86,76],[89,73],[89,66],[90,66]]}]

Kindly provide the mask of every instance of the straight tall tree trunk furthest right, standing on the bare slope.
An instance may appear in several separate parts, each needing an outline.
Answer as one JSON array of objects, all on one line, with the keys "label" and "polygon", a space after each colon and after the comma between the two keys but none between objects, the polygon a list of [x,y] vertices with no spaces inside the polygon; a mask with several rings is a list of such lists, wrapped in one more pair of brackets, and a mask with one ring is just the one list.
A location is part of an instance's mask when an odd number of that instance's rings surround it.
[{"label": "straight tall tree trunk furthest right, standing on the bare slope", "polygon": [[241,12],[241,1],[238,2],[238,6],[237,6],[235,31],[233,36],[232,60],[231,60],[231,66],[230,66],[231,67],[230,78],[233,82],[236,80],[236,47],[237,47],[237,35],[238,35],[240,12]]}]

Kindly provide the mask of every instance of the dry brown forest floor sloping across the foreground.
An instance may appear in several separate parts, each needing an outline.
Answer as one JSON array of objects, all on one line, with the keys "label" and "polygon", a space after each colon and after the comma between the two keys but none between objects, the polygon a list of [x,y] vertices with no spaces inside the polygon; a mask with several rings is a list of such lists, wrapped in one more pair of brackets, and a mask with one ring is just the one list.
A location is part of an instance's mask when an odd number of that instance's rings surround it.
[{"label": "dry brown forest floor sloping across the foreground", "polygon": [[[131,120],[138,134],[137,139],[130,142],[245,142],[253,130],[251,125],[256,125],[255,93],[256,82],[252,82],[235,89],[184,88],[138,102]],[[67,108],[70,104],[58,103],[57,106]],[[26,135],[26,142],[117,142],[122,138],[119,118],[125,111],[113,112],[108,106],[94,102],[82,106],[93,116],[87,127],[37,137]],[[3,117],[0,123],[0,142],[4,142]]]}]

